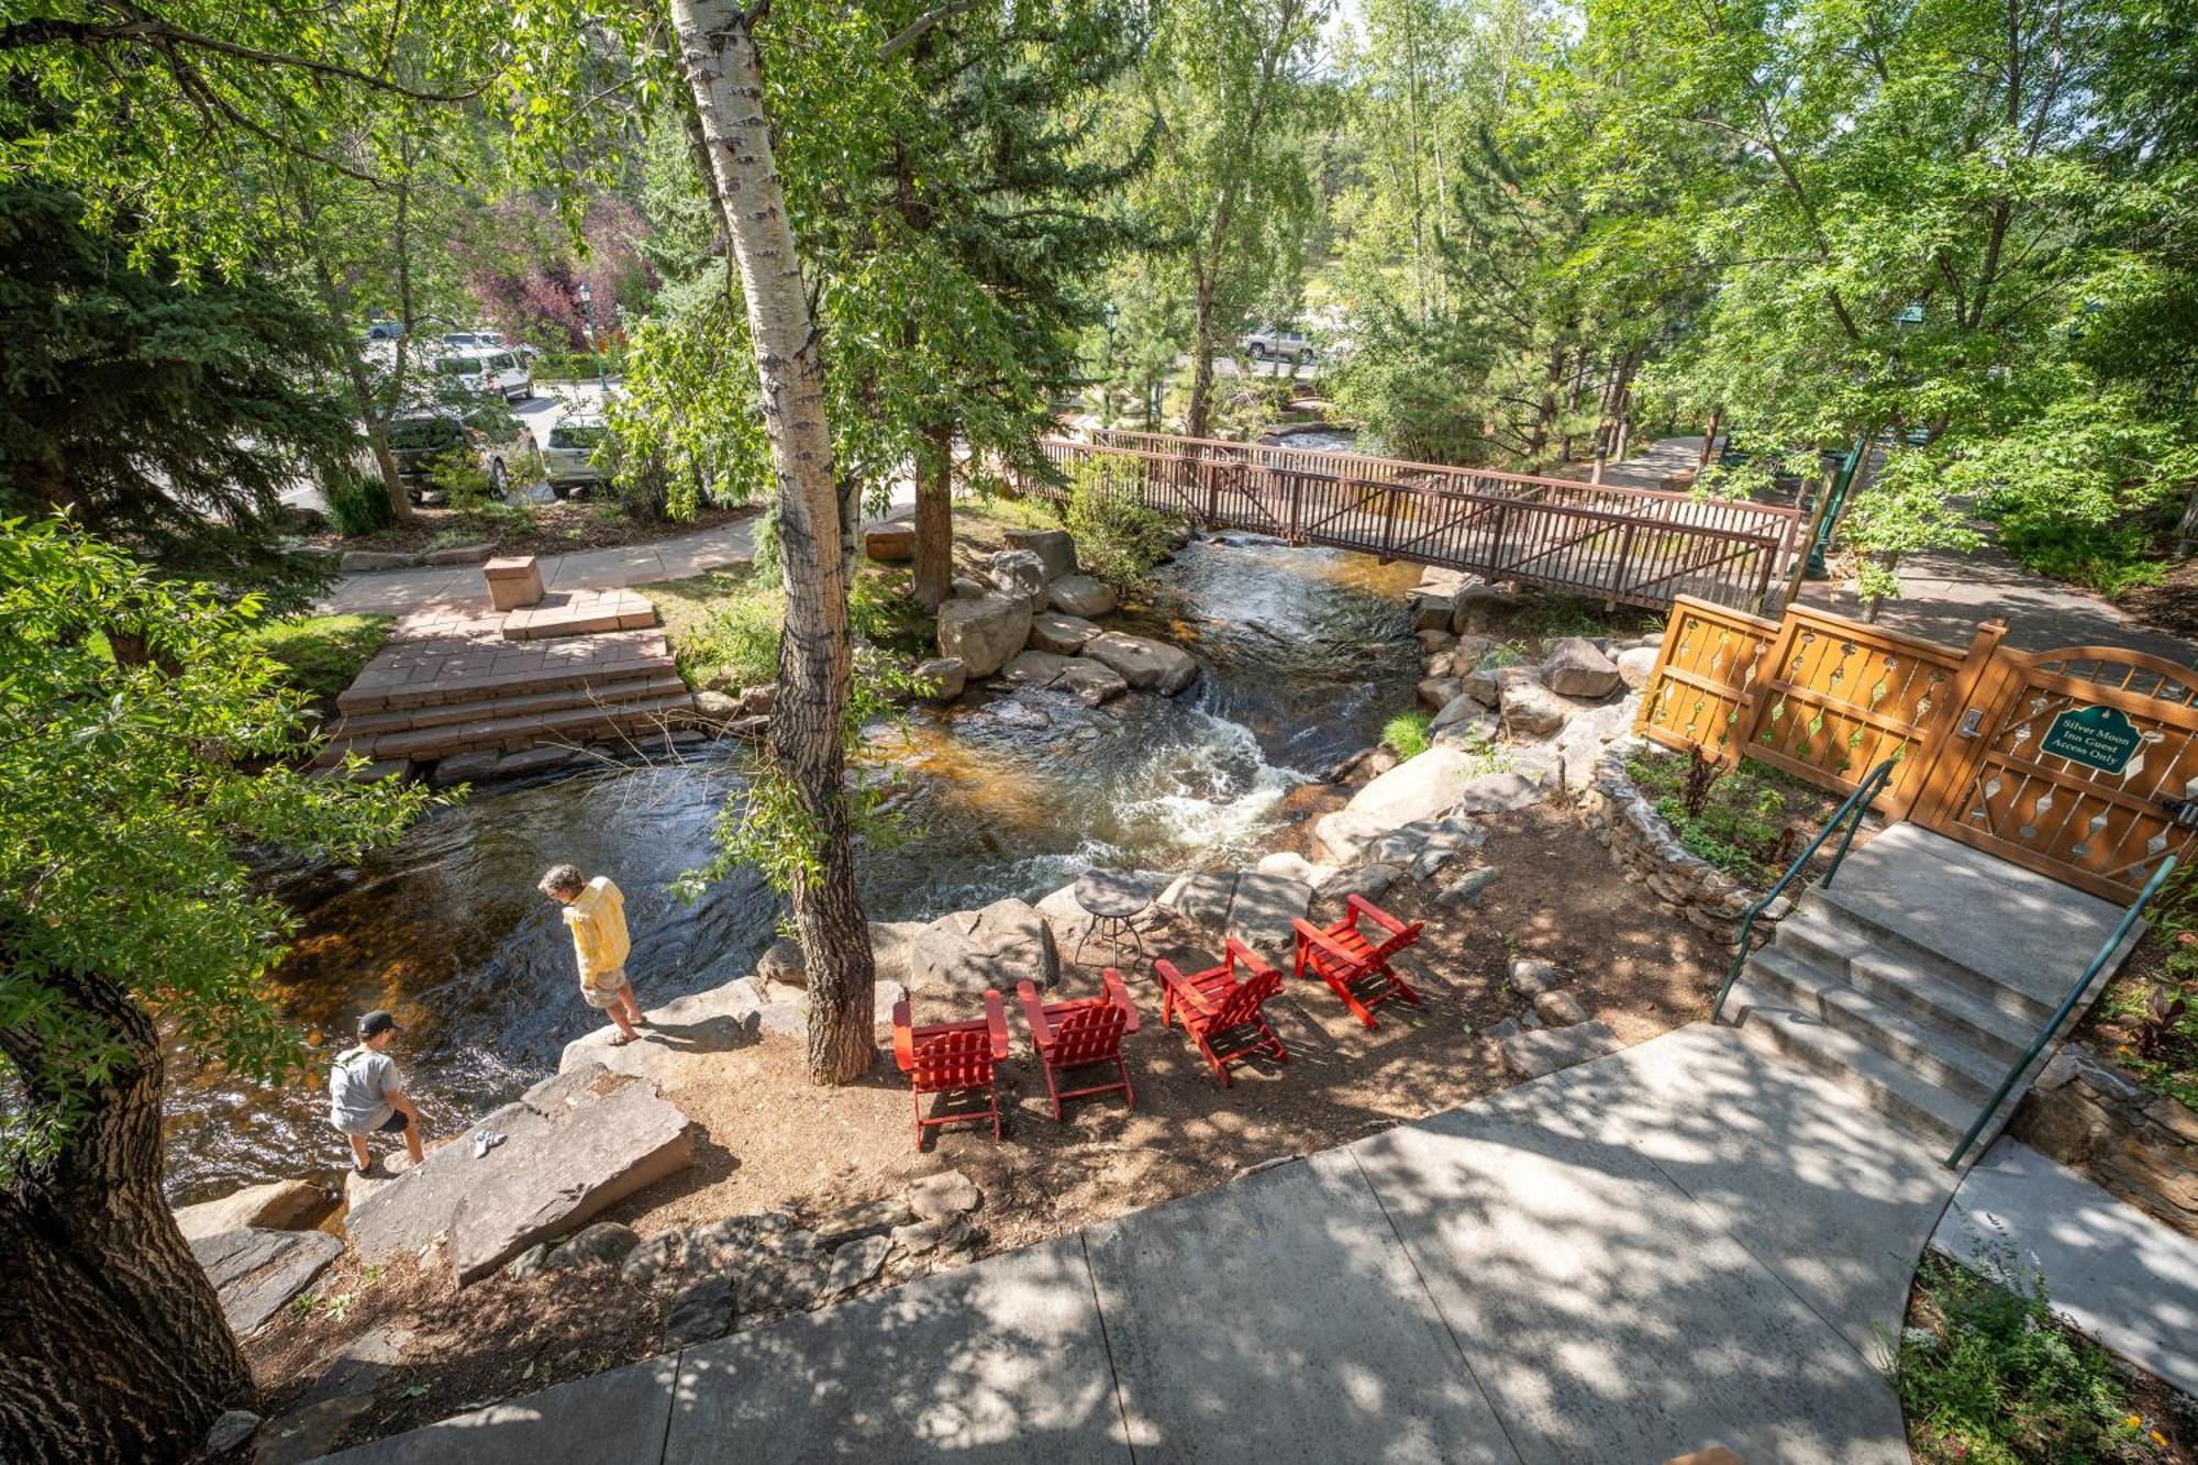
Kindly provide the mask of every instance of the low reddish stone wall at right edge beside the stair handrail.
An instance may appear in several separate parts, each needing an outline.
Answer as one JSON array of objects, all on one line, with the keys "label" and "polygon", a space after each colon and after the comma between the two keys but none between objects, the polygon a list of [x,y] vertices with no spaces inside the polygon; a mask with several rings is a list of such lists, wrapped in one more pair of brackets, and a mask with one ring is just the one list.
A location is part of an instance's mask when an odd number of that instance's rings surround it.
[{"label": "low reddish stone wall at right edge beside the stair handrail", "polygon": [[2038,1073],[2009,1133],[2101,1190],[2198,1236],[2198,1115],[2082,1043]]}]

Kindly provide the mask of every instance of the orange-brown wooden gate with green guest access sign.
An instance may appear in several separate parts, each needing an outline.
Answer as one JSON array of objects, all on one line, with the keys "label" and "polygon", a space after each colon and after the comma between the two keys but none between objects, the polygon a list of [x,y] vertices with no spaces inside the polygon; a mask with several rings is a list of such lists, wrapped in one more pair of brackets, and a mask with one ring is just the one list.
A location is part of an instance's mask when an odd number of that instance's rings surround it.
[{"label": "orange-brown wooden gate with green guest access sign", "polygon": [[1994,653],[1941,739],[1914,820],[2130,900],[2198,831],[2198,671],[2119,647]]}]

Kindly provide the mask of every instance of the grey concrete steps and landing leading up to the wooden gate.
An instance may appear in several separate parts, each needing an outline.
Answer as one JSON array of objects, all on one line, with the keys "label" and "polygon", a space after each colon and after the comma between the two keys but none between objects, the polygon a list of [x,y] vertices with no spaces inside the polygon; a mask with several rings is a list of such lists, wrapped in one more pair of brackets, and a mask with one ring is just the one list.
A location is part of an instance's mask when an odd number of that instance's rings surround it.
[{"label": "grey concrete steps and landing leading up to the wooden gate", "polygon": [[[2119,919],[2095,895],[1895,825],[1855,849],[1829,889],[1802,895],[1747,959],[1723,1018],[1952,1150]],[[2123,955],[2128,944],[2108,972]],[[2027,1082],[1985,1126],[1985,1144]]]}]

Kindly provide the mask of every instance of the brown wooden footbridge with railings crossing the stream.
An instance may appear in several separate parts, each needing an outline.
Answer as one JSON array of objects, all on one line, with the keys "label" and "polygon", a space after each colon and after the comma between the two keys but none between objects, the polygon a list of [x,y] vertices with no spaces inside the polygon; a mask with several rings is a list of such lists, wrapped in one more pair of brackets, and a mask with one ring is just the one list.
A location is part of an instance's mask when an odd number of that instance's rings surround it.
[{"label": "brown wooden footbridge with railings crossing the stream", "polygon": [[[1686,493],[1453,469],[1361,453],[1103,429],[1046,440],[1064,473],[1211,528],[1466,570],[1605,605],[1686,594],[1756,612],[1794,552],[1798,510]],[[1055,484],[1022,491],[1059,497]]]}]

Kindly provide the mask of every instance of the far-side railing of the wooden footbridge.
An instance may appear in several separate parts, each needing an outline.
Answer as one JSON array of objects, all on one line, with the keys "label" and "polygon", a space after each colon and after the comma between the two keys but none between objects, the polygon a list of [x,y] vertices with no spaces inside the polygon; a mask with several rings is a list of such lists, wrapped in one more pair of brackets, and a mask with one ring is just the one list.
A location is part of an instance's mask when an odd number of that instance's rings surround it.
[{"label": "far-side railing of the wooden footbridge", "polygon": [[1730,530],[1736,535],[1778,535],[1791,550],[1802,528],[1800,510],[1787,504],[1752,504],[1747,499],[1701,499],[1668,488],[1633,488],[1627,484],[1583,484],[1572,477],[1536,477],[1530,473],[1497,473],[1440,462],[1407,462],[1402,458],[1369,458],[1328,449],[1299,449],[1286,442],[1226,442],[1222,438],[1176,438],[1121,427],[1092,431],[1092,442],[1143,453],[1180,453],[1211,462],[1244,462],[1262,469],[1328,473],[1369,484],[1416,484],[1508,497],[1530,504],[1561,504],[1664,524]]}]

